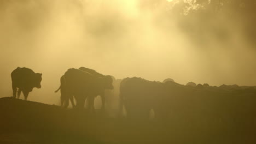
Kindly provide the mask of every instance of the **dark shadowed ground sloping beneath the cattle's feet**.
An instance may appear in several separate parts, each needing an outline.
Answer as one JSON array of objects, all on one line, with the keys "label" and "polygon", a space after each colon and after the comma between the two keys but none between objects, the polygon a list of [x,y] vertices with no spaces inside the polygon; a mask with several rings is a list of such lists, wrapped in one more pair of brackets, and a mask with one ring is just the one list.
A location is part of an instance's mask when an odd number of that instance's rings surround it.
[{"label": "dark shadowed ground sloping beneath the cattle's feet", "polygon": [[256,143],[256,122],[246,117],[131,122],[13,98],[0,99],[0,116],[0,143]]}]

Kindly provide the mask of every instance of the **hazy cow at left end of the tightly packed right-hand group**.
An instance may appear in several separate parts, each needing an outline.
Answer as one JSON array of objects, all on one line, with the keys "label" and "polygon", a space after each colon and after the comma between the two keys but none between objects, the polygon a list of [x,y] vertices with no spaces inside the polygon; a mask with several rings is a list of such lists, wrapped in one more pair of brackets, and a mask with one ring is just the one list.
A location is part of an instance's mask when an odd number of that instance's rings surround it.
[{"label": "hazy cow at left end of the tightly packed right-hand group", "polygon": [[148,81],[140,77],[127,77],[120,83],[119,115],[123,115],[123,106],[126,117],[129,119],[148,119],[150,110],[158,115],[161,97],[164,97],[163,83]]}]

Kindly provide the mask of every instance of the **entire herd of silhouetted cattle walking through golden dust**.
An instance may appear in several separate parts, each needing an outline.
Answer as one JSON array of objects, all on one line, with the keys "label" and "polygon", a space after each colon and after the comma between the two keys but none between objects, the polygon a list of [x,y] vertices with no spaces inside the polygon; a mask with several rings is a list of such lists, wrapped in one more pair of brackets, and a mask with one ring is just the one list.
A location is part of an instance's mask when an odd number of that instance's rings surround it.
[{"label": "entire herd of silhouetted cattle walking through golden dust", "polygon": [[[42,74],[34,73],[28,68],[16,68],[11,73],[13,97],[24,93],[25,100],[34,87],[40,88]],[[69,100],[75,109],[86,105],[94,110],[94,99],[101,96],[102,107],[105,107],[105,96],[111,103],[113,91],[118,90],[119,114],[131,119],[147,119],[150,111],[156,119],[211,119],[224,121],[226,117],[241,119],[253,117],[256,113],[256,88],[250,86],[222,85],[210,86],[207,83],[196,85],[189,82],[181,85],[172,79],[163,82],[148,81],[139,77],[125,78],[113,86],[115,79],[97,71],[80,67],[68,69],[61,76],[61,106],[67,107]]]}]

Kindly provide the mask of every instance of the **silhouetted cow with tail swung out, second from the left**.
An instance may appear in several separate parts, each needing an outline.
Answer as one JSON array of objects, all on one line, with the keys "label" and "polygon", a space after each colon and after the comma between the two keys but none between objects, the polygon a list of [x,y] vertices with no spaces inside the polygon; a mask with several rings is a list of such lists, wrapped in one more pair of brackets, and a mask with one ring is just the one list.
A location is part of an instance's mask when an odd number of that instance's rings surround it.
[{"label": "silhouetted cow with tail swung out, second from the left", "polygon": [[80,69],[68,69],[64,74],[65,77],[65,93],[63,103],[66,107],[69,99],[73,96],[77,101],[77,108],[82,109],[86,98],[89,100],[89,109],[94,109],[93,100],[96,95],[101,93],[102,89],[113,89],[112,79],[108,76],[97,77]]}]

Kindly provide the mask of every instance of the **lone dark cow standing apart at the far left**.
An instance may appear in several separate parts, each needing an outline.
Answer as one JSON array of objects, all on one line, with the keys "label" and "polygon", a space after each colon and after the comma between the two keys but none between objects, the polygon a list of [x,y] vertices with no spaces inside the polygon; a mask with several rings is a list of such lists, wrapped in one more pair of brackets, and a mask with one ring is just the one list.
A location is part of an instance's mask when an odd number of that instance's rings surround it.
[{"label": "lone dark cow standing apart at the far left", "polygon": [[27,100],[28,93],[32,92],[33,88],[41,88],[40,82],[42,81],[42,74],[34,73],[32,69],[16,68],[11,72],[11,82],[13,88],[13,97],[16,98],[18,89],[18,99],[21,92]]}]

